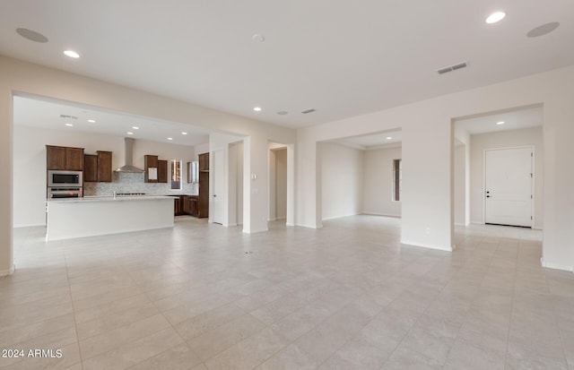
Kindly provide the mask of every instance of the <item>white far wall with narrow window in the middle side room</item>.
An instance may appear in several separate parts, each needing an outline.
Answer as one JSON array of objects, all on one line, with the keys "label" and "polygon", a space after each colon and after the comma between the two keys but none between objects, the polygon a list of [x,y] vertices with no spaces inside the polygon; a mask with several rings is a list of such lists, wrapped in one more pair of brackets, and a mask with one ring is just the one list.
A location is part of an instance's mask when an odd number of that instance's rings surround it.
[{"label": "white far wall with narrow window in the middle side room", "polygon": [[363,212],[401,217],[401,202],[393,201],[393,159],[402,158],[401,147],[365,151],[363,157]]}]

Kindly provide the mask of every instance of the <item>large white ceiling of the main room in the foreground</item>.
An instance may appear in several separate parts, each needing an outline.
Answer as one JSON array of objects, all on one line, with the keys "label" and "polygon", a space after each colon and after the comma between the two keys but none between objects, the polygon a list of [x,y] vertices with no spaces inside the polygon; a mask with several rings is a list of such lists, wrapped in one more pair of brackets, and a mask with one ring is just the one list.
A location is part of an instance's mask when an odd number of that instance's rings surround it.
[{"label": "large white ceiling of the main room in the foreground", "polygon": [[[0,54],[301,127],[572,65],[572,14],[572,0],[2,1]],[[561,25],[526,38],[547,22]]]}]

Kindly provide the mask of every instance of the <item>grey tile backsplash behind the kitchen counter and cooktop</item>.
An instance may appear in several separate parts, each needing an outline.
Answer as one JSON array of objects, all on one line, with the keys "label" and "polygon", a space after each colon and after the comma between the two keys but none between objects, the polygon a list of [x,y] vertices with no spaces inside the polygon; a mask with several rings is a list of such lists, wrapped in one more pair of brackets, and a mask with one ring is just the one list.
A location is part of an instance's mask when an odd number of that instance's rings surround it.
[{"label": "grey tile backsplash behind the kitchen counter and cooktop", "polygon": [[153,195],[197,194],[197,184],[183,182],[182,190],[171,190],[170,183],[153,184],[143,182],[142,173],[114,172],[111,183],[83,183],[83,194],[112,195],[116,193],[144,193]]}]

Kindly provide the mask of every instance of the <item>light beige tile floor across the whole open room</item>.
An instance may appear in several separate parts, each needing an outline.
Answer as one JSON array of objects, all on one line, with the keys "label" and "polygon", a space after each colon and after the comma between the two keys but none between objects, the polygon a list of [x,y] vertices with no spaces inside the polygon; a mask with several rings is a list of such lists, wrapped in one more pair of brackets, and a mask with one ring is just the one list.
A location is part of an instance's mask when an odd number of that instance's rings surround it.
[{"label": "light beige tile floor across the whole open room", "polygon": [[574,369],[574,275],[540,267],[540,231],[457,228],[452,254],[374,216],[43,233],[15,230],[0,348],[62,357],[2,369]]}]

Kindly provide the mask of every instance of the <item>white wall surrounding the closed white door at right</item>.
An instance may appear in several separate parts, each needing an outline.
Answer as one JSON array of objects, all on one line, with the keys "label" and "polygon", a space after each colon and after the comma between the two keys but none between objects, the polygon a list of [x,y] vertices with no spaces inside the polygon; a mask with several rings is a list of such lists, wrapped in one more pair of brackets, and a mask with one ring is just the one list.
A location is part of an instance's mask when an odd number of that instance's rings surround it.
[{"label": "white wall surrounding the closed white door at right", "polygon": [[471,136],[471,222],[483,223],[485,149],[535,146],[535,228],[544,226],[544,144],[542,127]]}]

